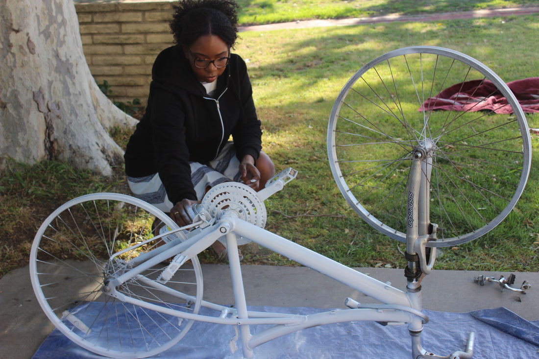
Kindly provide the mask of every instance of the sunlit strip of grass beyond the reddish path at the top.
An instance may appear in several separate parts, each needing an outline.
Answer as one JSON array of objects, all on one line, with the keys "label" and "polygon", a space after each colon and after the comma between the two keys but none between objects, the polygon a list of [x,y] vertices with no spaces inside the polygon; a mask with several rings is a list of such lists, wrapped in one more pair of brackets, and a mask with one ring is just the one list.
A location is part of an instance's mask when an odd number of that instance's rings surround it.
[{"label": "sunlit strip of grass beyond the reddish path at the top", "polygon": [[388,14],[418,15],[439,12],[460,12],[483,9],[537,6],[534,0],[524,1],[459,1],[459,0],[238,0],[241,7],[239,23],[258,25],[309,19],[339,19],[372,17]]}]

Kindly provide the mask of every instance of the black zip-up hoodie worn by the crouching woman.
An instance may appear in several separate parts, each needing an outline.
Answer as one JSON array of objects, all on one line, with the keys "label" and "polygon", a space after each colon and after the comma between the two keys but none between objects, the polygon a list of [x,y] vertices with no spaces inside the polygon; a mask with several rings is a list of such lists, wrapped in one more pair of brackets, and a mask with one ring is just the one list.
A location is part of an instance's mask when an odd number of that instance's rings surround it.
[{"label": "black zip-up hoodie worn by the crouching woman", "polygon": [[206,95],[180,45],[163,50],[152,68],[146,113],[127,144],[126,174],[158,172],[173,204],[197,199],[189,162],[213,160],[232,135],[239,160],[261,150],[260,121],[254,108],[245,61],[231,54],[217,79],[215,99]]}]

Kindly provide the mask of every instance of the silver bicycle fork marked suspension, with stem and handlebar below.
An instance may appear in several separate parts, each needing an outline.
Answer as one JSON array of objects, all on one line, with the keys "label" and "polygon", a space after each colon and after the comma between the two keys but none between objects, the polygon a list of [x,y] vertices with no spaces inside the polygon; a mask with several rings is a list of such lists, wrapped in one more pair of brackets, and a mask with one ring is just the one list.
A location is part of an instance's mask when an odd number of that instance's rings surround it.
[{"label": "silver bicycle fork marked suspension, with stem and handlebar below", "polygon": [[[429,240],[436,240],[437,224],[430,223],[430,178],[432,174],[432,151],[434,143],[424,140],[412,152],[412,167],[406,187],[406,295],[414,309],[421,310],[421,281],[430,274],[436,259],[436,247],[427,247]],[[413,359],[469,359],[473,355],[475,334],[470,333],[466,351],[454,351],[448,356],[427,352],[421,344],[423,323],[412,317],[408,325],[412,339]]]}]

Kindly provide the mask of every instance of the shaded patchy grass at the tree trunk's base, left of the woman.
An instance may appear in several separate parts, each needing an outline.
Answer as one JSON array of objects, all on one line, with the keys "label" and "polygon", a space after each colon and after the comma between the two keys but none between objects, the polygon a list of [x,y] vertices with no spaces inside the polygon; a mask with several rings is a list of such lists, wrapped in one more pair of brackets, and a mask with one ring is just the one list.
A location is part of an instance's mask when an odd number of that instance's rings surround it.
[{"label": "shaded patchy grass at the tree trunk's base, left of the woman", "polygon": [[31,166],[8,160],[0,177],[0,276],[27,264],[33,236],[60,204],[83,194],[115,191],[119,183],[66,163]]}]

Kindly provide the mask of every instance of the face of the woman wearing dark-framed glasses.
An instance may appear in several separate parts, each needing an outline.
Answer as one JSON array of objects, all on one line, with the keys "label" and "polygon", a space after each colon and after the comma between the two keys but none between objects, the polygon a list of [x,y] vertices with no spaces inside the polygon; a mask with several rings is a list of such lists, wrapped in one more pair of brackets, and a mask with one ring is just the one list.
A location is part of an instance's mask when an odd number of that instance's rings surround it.
[{"label": "face of the woman wearing dark-framed glasses", "polygon": [[229,46],[216,35],[203,35],[199,37],[191,46],[183,45],[185,57],[189,59],[189,64],[195,72],[195,77],[201,82],[213,82],[225,71],[226,66],[216,67],[210,63],[204,68],[195,66],[195,60],[218,60],[229,57]]}]

